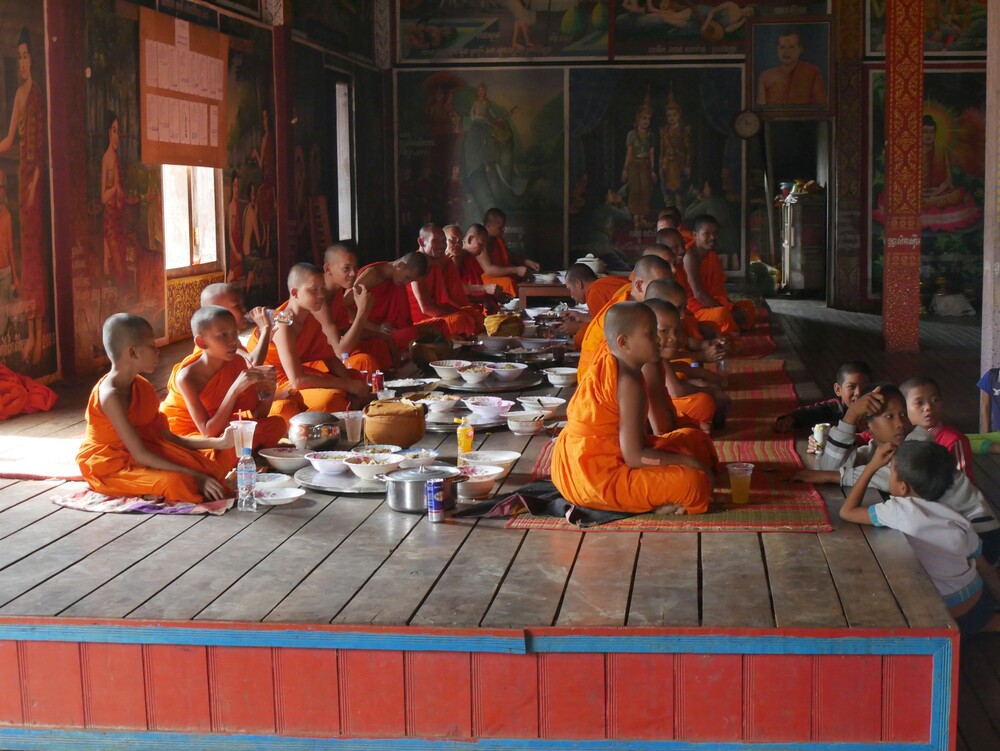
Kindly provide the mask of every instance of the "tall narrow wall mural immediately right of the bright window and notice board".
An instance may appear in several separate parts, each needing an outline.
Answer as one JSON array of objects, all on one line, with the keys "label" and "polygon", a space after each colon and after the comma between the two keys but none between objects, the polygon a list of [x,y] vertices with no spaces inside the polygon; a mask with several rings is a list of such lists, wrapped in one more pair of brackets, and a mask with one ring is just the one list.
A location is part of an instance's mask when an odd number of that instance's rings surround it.
[{"label": "tall narrow wall mural immediately right of the bright window and notice board", "polygon": [[230,35],[226,280],[243,289],[248,307],[271,305],[279,294],[271,35],[236,21],[223,32]]}]

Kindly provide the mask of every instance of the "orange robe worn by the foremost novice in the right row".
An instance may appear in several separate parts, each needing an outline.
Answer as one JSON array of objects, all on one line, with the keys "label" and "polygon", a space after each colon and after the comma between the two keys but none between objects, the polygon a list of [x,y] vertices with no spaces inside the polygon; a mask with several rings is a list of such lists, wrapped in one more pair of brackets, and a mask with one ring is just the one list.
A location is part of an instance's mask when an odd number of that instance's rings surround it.
[{"label": "orange robe worn by the foremost novice in the right row", "polygon": [[[566,417],[552,452],[552,482],[568,501],[631,513],[668,503],[684,506],[689,514],[708,510],[712,488],[704,472],[683,465],[632,469],[625,464],[618,433],[618,361],[607,346],[595,355]],[[693,428],[647,436],[646,445],[687,454],[710,469],[718,463],[711,439]]]}]

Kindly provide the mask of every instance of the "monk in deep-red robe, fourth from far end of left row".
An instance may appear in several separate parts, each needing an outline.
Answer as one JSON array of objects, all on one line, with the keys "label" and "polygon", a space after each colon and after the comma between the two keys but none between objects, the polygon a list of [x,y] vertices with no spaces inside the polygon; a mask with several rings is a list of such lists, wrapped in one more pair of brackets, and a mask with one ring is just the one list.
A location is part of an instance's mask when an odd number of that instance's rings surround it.
[{"label": "monk in deep-red robe, fourth from far end of left row", "polygon": [[449,338],[475,336],[483,330],[483,314],[469,303],[458,269],[445,255],[444,231],[436,224],[425,224],[417,243],[417,252],[427,257],[427,274],[406,288],[410,319],[433,324]]}]

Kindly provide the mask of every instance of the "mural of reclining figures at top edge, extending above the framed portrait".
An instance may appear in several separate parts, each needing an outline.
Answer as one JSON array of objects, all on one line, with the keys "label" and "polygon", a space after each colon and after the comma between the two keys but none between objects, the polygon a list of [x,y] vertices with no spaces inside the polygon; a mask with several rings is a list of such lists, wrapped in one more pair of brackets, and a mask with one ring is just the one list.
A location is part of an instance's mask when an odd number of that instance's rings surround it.
[{"label": "mural of reclining figures at top edge, extending above the framed portrait", "polygon": [[739,57],[746,53],[747,21],[754,18],[823,15],[826,0],[760,2],[615,0],[616,58]]}]

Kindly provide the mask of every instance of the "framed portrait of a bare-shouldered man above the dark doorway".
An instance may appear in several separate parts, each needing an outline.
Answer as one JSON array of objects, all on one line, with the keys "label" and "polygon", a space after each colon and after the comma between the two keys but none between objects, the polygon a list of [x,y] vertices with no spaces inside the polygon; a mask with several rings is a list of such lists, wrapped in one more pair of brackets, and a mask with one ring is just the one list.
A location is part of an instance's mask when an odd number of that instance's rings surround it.
[{"label": "framed portrait of a bare-shouldered man above the dark doorway", "polygon": [[747,102],[765,117],[827,117],[833,110],[829,16],[751,19]]}]

